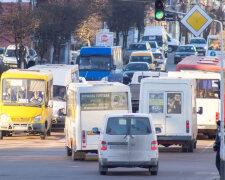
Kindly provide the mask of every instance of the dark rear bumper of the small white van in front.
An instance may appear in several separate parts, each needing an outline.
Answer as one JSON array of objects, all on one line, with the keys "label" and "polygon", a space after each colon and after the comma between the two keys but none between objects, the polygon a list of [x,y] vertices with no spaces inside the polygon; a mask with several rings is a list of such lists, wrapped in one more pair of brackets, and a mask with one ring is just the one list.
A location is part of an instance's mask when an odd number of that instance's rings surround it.
[{"label": "dark rear bumper of the small white van in front", "polygon": [[152,158],[150,161],[108,161],[107,158],[100,158],[99,163],[102,166],[107,167],[143,167],[143,168],[149,168],[153,166],[157,166],[158,159]]}]

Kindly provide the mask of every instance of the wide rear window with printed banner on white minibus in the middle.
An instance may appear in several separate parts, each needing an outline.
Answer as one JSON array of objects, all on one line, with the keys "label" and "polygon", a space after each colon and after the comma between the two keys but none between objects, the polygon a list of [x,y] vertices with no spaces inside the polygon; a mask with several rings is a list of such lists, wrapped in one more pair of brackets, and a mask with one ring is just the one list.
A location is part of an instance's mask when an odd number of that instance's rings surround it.
[{"label": "wide rear window with printed banner on white minibus in the middle", "polygon": [[127,110],[127,93],[82,93],[81,110]]}]

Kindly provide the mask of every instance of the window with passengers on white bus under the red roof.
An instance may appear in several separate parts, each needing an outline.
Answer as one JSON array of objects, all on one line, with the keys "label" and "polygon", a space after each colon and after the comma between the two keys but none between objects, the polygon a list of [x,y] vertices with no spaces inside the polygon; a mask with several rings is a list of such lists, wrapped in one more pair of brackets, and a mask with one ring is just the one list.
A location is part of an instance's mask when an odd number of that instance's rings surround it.
[{"label": "window with passengers on white bus under the red roof", "polygon": [[196,80],[197,98],[219,99],[219,80],[218,79],[197,79]]}]

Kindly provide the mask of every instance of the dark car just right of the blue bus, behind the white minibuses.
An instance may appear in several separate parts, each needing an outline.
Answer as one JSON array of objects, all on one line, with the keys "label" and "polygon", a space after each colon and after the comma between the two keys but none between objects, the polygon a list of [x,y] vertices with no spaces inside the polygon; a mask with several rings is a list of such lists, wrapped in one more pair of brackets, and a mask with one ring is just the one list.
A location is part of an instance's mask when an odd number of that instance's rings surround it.
[{"label": "dark car just right of the blue bus, behind the white minibuses", "polygon": [[123,83],[129,84],[136,71],[149,71],[148,63],[146,62],[130,62],[126,65],[123,72]]}]

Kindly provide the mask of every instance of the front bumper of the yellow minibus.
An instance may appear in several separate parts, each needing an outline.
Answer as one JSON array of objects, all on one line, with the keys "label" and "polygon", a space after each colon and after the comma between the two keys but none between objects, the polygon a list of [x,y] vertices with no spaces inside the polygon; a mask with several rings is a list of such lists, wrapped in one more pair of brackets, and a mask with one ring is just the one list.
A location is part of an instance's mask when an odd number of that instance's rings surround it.
[{"label": "front bumper of the yellow minibus", "polygon": [[29,123],[29,124],[19,124],[19,123],[1,123],[0,130],[3,131],[23,131],[23,132],[44,132],[44,123]]}]

